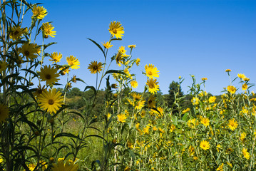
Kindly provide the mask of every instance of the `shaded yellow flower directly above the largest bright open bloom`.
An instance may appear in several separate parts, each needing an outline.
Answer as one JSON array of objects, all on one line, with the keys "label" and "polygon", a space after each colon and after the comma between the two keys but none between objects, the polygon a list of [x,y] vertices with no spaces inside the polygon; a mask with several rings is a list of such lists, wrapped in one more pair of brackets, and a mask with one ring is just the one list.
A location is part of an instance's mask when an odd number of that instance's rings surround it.
[{"label": "shaded yellow flower directly above the largest bright open bloom", "polygon": [[51,68],[51,66],[44,66],[44,68],[41,68],[41,71],[39,73],[39,78],[41,81],[46,81],[46,85],[53,85],[53,83],[56,83],[59,79],[58,76],[59,73],[58,68],[54,68],[54,66]]}]

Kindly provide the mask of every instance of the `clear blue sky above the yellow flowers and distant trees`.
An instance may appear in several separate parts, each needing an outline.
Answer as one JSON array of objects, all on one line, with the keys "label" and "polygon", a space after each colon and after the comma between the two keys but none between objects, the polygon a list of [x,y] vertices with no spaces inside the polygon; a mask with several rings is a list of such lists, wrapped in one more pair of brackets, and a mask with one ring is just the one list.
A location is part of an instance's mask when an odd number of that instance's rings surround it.
[{"label": "clear blue sky above the yellow flowers and distant trees", "polygon": [[[232,78],[237,73],[244,73],[250,83],[256,83],[256,1],[39,2],[48,11],[43,22],[53,21],[57,33],[55,38],[46,40],[46,43],[58,42],[48,52],[61,52],[63,57],[76,56],[81,68],[71,71],[71,76],[82,78],[88,86],[94,86],[96,79],[88,71],[88,64],[103,62],[103,56],[86,38],[98,43],[108,41],[111,21],[120,21],[125,34],[123,41],[113,42],[109,58],[119,46],[137,46],[133,58],[140,58],[141,65],[131,71],[136,73],[139,83],[134,90],[143,91],[146,78],[141,71],[149,63],[160,71],[158,81],[164,94],[168,93],[172,81],[178,81],[178,76],[185,78],[182,88],[187,93],[192,83],[190,74],[193,74],[198,83],[200,78],[208,78],[206,90],[219,95],[229,86],[225,69],[232,70]],[[61,62],[64,64],[65,58]],[[113,68],[117,68],[113,64]],[[87,85],[77,83],[73,86],[83,90]],[[252,90],[256,92],[255,87]]]}]

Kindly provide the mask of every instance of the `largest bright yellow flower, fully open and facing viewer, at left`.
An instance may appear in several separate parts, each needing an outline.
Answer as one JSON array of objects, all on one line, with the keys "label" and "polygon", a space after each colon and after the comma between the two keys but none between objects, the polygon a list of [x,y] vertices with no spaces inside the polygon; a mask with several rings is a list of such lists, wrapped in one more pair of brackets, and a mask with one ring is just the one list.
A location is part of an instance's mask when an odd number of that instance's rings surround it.
[{"label": "largest bright yellow flower, fully open and facing viewer, at left", "polygon": [[56,92],[56,88],[43,91],[39,96],[40,107],[43,108],[43,110],[47,110],[49,113],[56,113],[63,104],[62,101],[63,96],[61,96],[61,92]]}]

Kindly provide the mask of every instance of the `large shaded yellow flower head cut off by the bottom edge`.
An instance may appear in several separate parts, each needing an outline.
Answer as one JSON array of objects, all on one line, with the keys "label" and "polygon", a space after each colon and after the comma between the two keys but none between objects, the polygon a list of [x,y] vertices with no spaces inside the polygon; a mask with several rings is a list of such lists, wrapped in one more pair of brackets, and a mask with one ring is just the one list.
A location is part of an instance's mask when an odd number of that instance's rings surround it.
[{"label": "large shaded yellow flower head cut off by the bottom edge", "polygon": [[58,163],[53,163],[51,168],[53,171],[76,171],[78,170],[78,165],[75,164],[72,160],[68,160],[65,163],[63,160],[58,160]]}]

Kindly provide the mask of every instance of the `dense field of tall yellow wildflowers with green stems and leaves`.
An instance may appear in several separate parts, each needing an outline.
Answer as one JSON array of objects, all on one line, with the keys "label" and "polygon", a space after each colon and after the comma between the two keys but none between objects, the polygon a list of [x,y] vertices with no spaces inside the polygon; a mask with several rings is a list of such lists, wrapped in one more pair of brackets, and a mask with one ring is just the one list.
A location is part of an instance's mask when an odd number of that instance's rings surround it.
[{"label": "dense field of tall yellow wildflowers with green stems and leaves", "polygon": [[[54,42],[46,42],[56,31],[46,15],[41,4],[1,1],[0,170],[256,170],[256,96],[245,74],[223,71],[230,84],[223,85],[219,100],[205,91],[208,78],[197,82],[195,76],[185,99],[179,77],[173,104],[167,105],[158,95],[160,71],[154,64],[143,67],[144,91],[135,91],[135,45],[108,53],[124,36],[122,24],[110,21],[109,40],[88,38],[102,61],[89,59],[86,68],[96,83],[87,85],[79,78],[85,67],[79,58],[48,51]],[[67,98],[77,81],[91,92],[81,111]]]}]

